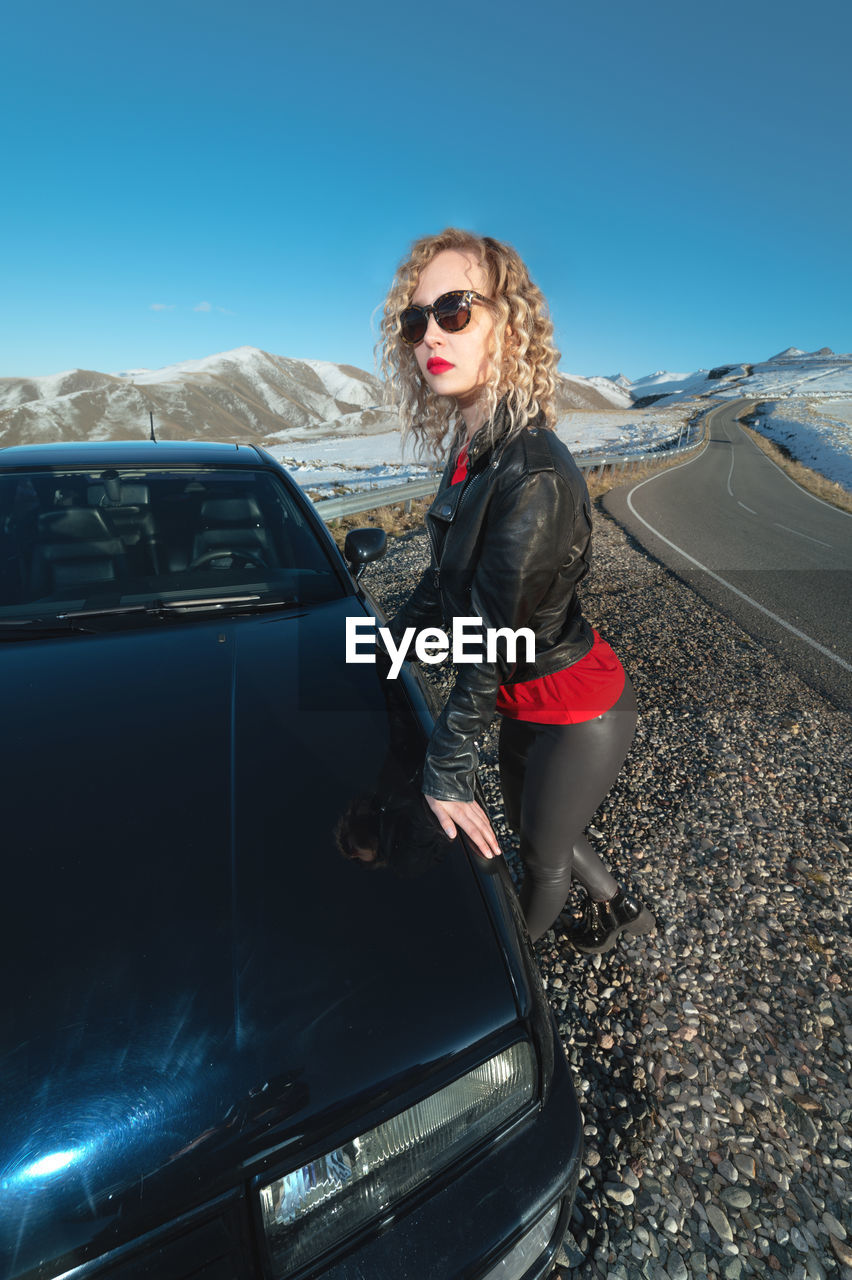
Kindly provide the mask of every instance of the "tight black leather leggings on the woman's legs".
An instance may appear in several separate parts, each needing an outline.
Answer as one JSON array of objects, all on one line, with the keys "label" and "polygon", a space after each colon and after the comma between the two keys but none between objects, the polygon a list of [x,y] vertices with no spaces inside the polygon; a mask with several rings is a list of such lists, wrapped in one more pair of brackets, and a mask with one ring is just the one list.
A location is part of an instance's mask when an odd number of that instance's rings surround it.
[{"label": "tight black leather leggings on the woman's legs", "polygon": [[500,787],[509,827],[521,835],[526,868],[521,906],[535,942],[554,923],[572,876],[590,897],[618,891],[583,835],[618,777],[636,731],[636,695],[626,677],[608,712],[580,724],[503,718]]}]

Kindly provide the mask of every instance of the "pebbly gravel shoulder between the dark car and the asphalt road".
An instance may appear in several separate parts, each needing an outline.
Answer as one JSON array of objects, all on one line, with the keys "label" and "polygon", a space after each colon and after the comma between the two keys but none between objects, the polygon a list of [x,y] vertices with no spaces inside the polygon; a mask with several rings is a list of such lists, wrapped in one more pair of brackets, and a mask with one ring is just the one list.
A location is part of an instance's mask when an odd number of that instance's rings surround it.
[{"label": "pebbly gravel shoulder between the dark car and the asphalt road", "polygon": [[[427,559],[397,539],[365,584],[390,614]],[[852,723],[600,511],[583,607],[640,704],[590,836],[658,931],[536,946],[586,1134],[560,1271],[852,1280]]]}]

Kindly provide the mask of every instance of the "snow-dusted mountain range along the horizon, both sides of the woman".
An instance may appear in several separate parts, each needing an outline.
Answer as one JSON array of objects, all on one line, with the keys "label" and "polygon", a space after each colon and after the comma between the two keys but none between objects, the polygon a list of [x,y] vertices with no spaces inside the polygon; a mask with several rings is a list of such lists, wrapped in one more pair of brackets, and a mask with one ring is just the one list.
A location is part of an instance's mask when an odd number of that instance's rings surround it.
[{"label": "snow-dusted mountain range along the horizon, both sides of the woman", "polygon": [[[560,375],[558,404],[563,416],[600,415],[734,396],[849,398],[852,356],[788,347],[762,364],[658,371],[633,383],[622,374]],[[73,369],[46,378],[0,379],[0,444],[145,438],[148,413],[160,439],[206,436],[275,448],[398,430],[372,374],[322,360],[272,356],[256,347],[157,370]]]}]

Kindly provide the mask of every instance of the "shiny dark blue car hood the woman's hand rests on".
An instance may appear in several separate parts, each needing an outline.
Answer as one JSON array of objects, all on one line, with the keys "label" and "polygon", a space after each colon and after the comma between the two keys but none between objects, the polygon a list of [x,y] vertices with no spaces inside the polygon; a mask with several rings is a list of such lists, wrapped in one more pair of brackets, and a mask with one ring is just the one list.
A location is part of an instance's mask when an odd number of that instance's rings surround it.
[{"label": "shiny dark blue car hood the woman's hand rests on", "polygon": [[404,681],[344,664],[348,614],[3,648],[14,1272],[298,1165],[517,1019],[458,841],[339,852],[353,804],[418,799],[423,753]]}]

